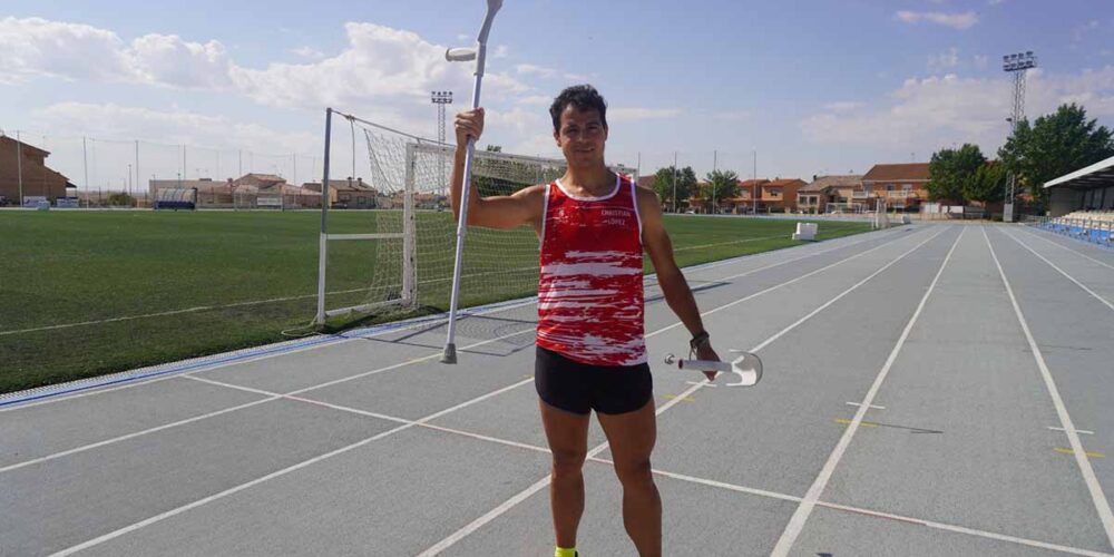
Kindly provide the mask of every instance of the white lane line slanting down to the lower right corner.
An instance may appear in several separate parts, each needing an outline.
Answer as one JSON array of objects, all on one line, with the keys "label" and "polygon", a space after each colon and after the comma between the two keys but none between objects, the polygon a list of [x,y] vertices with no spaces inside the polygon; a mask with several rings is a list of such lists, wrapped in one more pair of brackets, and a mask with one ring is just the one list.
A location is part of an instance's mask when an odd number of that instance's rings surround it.
[{"label": "white lane line slanting down to the lower right corner", "polygon": [[1029,350],[1037,362],[1037,368],[1040,369],[1040,377],[1044,378],[1045,388],[1048,389],[1048,395],[1052,397],[1053,404],[1056,405],[1059,427],[1064,428],[1067,440],[1072,443],[1075,462],[1079,466],[1079,473],[1083,475],[1083,481],[1087,485],[1087,491],[1091,492],[1091,500],[1098,512],[1098,520],[1102,521],[1103,529],[1106,530],[1106,539],[1110,541],[1111,547],[1114,547],[1114,512],[1111,512],[1106,495],[1103,494],[1098,478],[1095,477],[1095,470],[1091,468],[1091,460],[1087,459],[1087,452],[1083,448],[1083,442],[1079,441],[1079,434],[1076,433],[1072,417],[1067,413],[1067,407],[1064,405],[1064,400],[1059,397],[1059,390],[1056,389],[1056,381],[1053,380],[1052,372],[1048,371],[1048,364],[1045,363],[1044,355],[1040,353],[1040,346],[1037,345],[1037,341],[1033,338],[1029,323],[1025,320],[1022,306],[1017,303],[1014,289],[1009,285],[1009,280],[1006,278],[1006,272],[1001,268],[1001,262],[998,261],[998,255],[994,252],[994,244],[990,243],[990,236],[986,234],[986,228],[983,229],[983,238],[986,240],[986,245],[990,248],[990,256],[994,258],[995,266],[998,267],[998,275],[1001,276],[1001,283],[1006,286],[1006,294],[1009,294],[1009,303],[1014,305],[1014,313],[1017,314],[1017,321],[1022,324],[1022,331],[1025,332],[1025,340],[1029,343]]}]

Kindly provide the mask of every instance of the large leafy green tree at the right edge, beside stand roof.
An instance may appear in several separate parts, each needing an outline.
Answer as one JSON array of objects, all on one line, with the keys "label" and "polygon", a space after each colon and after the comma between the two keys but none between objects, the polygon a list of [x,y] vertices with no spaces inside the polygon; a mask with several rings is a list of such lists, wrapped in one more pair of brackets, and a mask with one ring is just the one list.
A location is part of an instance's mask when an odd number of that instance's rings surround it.
[{"label": "large leafy green tree at the right edge, beside stand roof", "polygon": [[1045,199],[1045,182],[1114,155],[1114,138],[1076,104],[1061,105],[1054,114],[1032,125],[1017,123],[1014,134],[998,149],[1006,169],[1014,173],[1033,197]]}]

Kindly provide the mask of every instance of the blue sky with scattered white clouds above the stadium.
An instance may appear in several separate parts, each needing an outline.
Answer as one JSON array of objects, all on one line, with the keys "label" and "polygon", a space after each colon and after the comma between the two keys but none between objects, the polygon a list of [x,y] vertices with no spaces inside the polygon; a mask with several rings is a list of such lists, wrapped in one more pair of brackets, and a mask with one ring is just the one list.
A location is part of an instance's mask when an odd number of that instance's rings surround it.
[{"label": "blue sky with scattered white clouds above the stadium", "polygon": [[[321,174],[326,106],[436,137],[430,91],[453,91],[450,121],[471,95],[470,66],[444,49],[475,41],[485,6],[8,0],[0,129],[51,150],[79,185],[136,173],[136,140],[141,179],[306,182]],[[559,157],[548,106],[589,82],[608,102],[608,163],[644,175],[674,156],[700,176],[805,180],[964,143],[993,156],[1009,131],[1006,53],[1038,57],[1029,118],[1074,101],[1114,127],[1112,37],[1110,0],[505,0],[481,144]],[[338,176],[351,174],[342,128]]]}]

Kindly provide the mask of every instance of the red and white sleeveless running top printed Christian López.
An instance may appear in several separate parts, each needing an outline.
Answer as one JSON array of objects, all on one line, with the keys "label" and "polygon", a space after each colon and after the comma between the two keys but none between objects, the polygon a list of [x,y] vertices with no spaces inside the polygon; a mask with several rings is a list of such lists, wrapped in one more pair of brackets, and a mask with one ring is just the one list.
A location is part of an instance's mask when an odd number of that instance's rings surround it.
[{"label": "red and white sleeveless running top printed Christian L\u00f3pez", "polygon": [[646,362],[642,218],[634,183],[602,197],[546,189],[537,344],[593,365]]}]

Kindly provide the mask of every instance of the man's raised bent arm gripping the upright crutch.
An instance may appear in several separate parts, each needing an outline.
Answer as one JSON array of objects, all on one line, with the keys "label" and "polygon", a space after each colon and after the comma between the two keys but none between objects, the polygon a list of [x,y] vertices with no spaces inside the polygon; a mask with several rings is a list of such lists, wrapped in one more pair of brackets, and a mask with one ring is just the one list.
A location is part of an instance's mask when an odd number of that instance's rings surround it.
[{"label": "man's raised bent arm gripping the upright crutch", "polygon": [[[479,139],[483,131],[483,109],[457,115],[457,150],[452,157],[452,182],[449,201],[452,216],[460,221],[460,194],[465,176],[465,156],[468,139]],[[515,228],[524,224],[537,225],[541,218],[545,187],[530,186],[511,195],[480,197],[476,186],[468,184],[468,225],[487,228]]]}]

